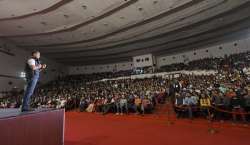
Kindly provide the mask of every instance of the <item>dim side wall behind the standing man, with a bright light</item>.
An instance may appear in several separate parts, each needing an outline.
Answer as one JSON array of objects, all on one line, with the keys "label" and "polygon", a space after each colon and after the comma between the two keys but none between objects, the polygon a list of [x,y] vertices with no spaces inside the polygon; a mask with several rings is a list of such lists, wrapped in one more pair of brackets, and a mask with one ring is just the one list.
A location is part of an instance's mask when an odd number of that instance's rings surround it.
[{"label": "dim side wall behind the standing man, with a bright light", "polygon": [[[25,61],[30,57],[30,52],[17,48],[7,41],[0,40],[0,91],[8,91],[13,87],[23,89]],[[44,57],[41,58],[48,68],[41,73],[41,83],[48,82],[59,74],[63,74],[60,64]]]}]

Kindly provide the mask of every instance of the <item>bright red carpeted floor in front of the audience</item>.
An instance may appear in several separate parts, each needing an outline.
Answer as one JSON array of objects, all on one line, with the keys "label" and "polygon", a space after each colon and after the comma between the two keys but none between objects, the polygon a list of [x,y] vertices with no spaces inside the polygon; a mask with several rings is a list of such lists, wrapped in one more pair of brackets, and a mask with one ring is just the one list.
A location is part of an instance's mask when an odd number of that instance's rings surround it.
[{"label": "bright red carpeted floor in front of the audience", "polygon": [[67,112],[65,145],[249,145],[249,126],[168,118]]}]

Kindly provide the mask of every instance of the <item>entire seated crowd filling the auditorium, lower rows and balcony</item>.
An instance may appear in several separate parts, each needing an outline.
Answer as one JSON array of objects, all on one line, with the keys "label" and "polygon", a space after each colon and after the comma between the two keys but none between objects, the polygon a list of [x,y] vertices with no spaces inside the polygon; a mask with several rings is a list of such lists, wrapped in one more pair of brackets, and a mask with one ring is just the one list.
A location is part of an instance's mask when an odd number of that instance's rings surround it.
[{"label": "entire seated crowd filling the auditorium, lower rows and balcony", "polygon": [[[169,80],[161,77],[101,81],[129,76],[131,71],[60,77],[39,86],[32,98],[38,108],[77,109],[81,112],[124,115],[152,113],[169,96],[178,118],[249,120],[250,53],[224,58],[204,58],[189,63],[172,64],[159,71],[216,70],[213,75],[184,75]],[[22,93],[0,99],[1,108],[20,107]],[[237,118],[240,117],[240,118]]]}]

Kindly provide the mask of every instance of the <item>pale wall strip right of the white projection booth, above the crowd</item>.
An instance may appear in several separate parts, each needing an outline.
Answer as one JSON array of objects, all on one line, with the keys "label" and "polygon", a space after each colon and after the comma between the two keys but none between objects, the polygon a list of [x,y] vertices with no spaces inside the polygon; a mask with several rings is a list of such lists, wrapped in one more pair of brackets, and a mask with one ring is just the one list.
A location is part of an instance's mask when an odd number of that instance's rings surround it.
[{"label": "pale wall strip right of the white projection booth, above the crowd", "polygon": [[222,43],[219,45],[194,48],[192,51],[157,57],[157,66],[161,67],[173,63],[185,63],[208,57],[223,57],[234,53],[250,51],[250,37]]}]

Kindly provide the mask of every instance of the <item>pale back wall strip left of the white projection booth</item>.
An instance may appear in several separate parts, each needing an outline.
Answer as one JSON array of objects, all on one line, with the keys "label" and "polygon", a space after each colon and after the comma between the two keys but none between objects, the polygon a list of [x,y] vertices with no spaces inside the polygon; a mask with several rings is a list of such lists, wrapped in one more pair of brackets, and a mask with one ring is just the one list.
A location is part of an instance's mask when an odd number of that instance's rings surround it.
[{"label": "pale back wall strip left of the white projection booth", "polygon": [[86,65],[69,67],[69,74],[91,74],[99,72],[117,72],[123,70],[131,70],[133,62],[120,62],[103,65]]}]

